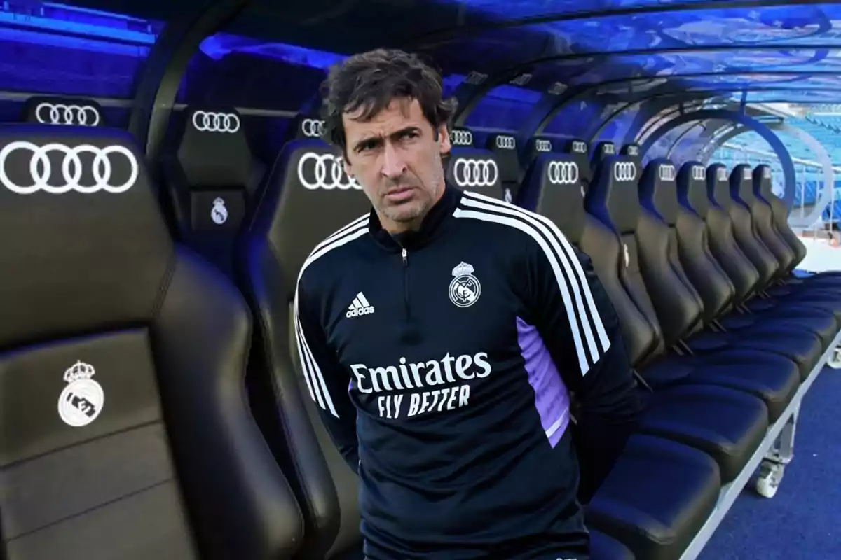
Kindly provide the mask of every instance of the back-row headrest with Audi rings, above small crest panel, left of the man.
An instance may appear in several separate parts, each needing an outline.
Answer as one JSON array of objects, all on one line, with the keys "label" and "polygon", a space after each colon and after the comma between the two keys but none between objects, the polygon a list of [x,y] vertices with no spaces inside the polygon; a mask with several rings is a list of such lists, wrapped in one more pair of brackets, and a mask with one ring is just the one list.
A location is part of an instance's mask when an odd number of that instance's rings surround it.
[{"label": "back-row headrest with Audi rings, above small crest panel, left of the man", "polygon": [[177,159],[193,189],[246,187],[251,149],[240,114],[233,107],[187,107]]}]

